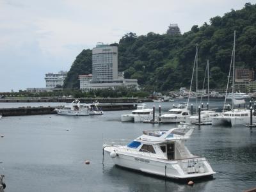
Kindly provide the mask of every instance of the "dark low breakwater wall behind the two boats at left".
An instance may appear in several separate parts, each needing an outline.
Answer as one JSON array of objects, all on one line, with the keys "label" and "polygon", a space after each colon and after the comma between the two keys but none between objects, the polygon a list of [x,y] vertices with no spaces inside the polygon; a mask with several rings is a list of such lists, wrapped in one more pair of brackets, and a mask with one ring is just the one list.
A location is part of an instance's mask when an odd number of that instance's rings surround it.
[{"label": "dark low breakwater wall behind the two boats at left", "polygon": [[[136,109],[137,104],[99,104],[98,108],[103,111],[118,111],[118,110],[131,110]],[[47,115],[56,114],[54,109],[61,108],[63,106],[56,107],[22,107],[22,108],[3,108],[0,109],[0,114],[3,116],[19,116],[19,115]]]}]

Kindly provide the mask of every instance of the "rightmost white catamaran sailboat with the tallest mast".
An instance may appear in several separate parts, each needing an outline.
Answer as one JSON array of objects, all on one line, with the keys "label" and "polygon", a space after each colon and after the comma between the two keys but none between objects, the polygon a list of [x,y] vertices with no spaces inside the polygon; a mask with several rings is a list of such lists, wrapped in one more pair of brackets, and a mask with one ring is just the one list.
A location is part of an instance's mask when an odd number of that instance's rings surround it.
[{"label": "rightmost white catamaran sailboat with the tallest mast", "polygon": [[[230,62],[230,70],[228,75],[228,83],[229,83],[229,77],[230,77],[230,71],[233,67],[233,76],[232,76],[232,110],[226,111],[221,113],[220,116],[216,116],[212,118],[212,125],[230,125],[231,127],[234,127],[236,125],[245,125],[250,123],[250,110],[248,109],[235,109],[236,100],[234,97],[234,84],[235,84],[235,56],[236,56],[236,31],[234,31],[234,46],[232,51],[232,59]],[[232,66],[233,65],[233,66]],[[228,83],[227,83],[227,90],[228,90]],[[226,104],[227,99],[227,90],[226,90],[226,97],[224,106]],[[256,122],[256,116],[252,116],[253,123]]]}]

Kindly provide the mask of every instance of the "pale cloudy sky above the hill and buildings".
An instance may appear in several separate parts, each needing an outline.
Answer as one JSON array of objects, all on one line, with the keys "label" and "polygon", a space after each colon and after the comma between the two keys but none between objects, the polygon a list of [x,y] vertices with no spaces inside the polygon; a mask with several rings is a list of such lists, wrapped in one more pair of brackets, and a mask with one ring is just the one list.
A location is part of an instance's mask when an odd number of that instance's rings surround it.
[{"label": "pale cloudy sky above the hill and buildings", "polygon": [[256,0],[0,0],[0,92],[45,87],[44,74],[69,70],[77,54],[132,31],[182,33]]}]

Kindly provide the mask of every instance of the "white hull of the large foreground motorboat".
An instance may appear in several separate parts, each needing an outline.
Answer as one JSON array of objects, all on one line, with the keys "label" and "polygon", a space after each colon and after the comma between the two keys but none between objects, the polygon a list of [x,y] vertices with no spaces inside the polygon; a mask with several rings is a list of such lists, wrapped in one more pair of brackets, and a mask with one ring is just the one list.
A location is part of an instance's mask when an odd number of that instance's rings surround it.
[{"label": "white hull of the large foreground motorboat", "polygon": [[[111,147],[110,147],[111,148]],[[109,147],[104,148],[104,151],[110,153],[111,149]],[[152,175],[159,175],[163,177],[168,177],[172,179],[189,179],[195,177],[209,177],[215,172],[212,171],[211,166],[205,158],[194,158],[194,159],[184,159],[179,161],[167,161],[164,159],[153,159],[147,157],[147,159],[140,155],[129,155],[117,153],[117,156],[112,158],[113,163],[122,166],[124,168],[129,168],[132,170],[138,170],[140,172],[149,173]],[[194,164],[193,167],[189,167],[190,164]],[[199,167],[199,164],[204,167]],[[189,168],[188,168],[189,167]]]}]

